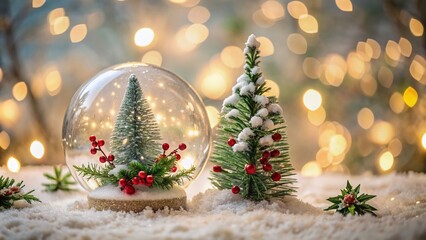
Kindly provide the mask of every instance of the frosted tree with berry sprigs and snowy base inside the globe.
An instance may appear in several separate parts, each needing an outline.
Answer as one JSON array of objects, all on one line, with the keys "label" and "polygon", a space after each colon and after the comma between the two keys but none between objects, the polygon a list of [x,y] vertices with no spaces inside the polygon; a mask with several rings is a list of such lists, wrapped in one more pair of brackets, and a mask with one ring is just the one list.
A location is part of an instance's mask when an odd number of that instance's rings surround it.
[{"label": "frosted tree with berry sprigs and snowy base inside the globe", "polygon": [[102,164],[74,165],[78,174],[96,179],[101,187],[88,195],[89,206],[97,210],[142,211],[164,207],[179,209],[186,206],[186,193],[176,185],[191,179],[195,167],[178,169],[181,143],[171,148],[160,144],[160,131],[135,75],[121,102],[110,139],[111,154],[107,154],[104,139],[88,136],[90,153],[99,155]]}]

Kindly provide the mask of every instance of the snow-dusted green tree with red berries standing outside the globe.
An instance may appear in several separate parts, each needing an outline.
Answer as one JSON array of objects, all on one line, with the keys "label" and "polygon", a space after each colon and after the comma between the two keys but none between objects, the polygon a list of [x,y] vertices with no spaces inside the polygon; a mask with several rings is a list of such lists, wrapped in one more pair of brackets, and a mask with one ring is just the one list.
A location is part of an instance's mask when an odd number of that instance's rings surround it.
[{"label": "snow-dusted green tree with red berries standing outside the globe", "polygon": [[264,96],[270,88],[260,71],[259,46],[250,35],[245,73],[223,102],[211,158],[213,185],[254,201],[295,193],[283,110],[276,97]]}]

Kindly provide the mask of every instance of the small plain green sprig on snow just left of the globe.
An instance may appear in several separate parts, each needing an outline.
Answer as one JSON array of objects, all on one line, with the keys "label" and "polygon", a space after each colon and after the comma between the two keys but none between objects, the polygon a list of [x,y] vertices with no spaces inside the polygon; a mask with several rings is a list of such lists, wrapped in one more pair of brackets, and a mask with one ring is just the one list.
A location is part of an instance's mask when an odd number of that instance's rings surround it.
[{"label": "small plain green sprig on snow just left of the globe", "polygon": [[53,174],[44,173],[43,174],[50,183],[43,183],[45,190],[48,192],[56,191],[73,191],[75,189],[71,188],[72,185],[75,185],[76,182],[72,179],[70,172],[62,175],[62,167],[54,166]]}]

